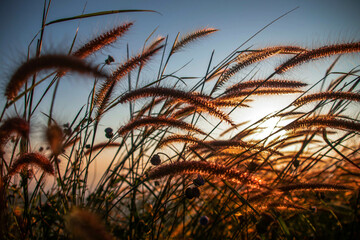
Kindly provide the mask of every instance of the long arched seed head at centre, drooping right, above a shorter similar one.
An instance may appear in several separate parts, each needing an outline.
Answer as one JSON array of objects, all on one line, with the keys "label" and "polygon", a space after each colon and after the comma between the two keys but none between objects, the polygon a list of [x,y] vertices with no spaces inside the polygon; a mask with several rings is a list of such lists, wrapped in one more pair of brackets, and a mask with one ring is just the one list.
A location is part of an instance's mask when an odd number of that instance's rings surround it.
[{"label": "long arched seed head at centre, drooping right, above a shorter similar one", "polygon": [[233,124],[230,120],[229,115],[220,111],[211,101],[208,101],[207,96],[200,95],[193,92],[184,92],[177,89],[163,88],[163,87],[152,87],[152,88],[141,88],[133,90],[121,97],[120,103],[124,103],[130,100],[135,100],[141,97],[171,97],[176,101],[183,101],[190,103],[198,108],[204,109],[208,113]]}]

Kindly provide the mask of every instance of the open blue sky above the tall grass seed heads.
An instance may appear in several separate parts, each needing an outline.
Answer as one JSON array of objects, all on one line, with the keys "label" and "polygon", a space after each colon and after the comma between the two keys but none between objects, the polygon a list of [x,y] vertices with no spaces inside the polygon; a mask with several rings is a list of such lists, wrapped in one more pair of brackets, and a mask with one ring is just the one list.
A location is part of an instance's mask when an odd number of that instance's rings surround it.
[{"label": "open blue sky above the tall grass seed heads", "polygon": [[[29,42],[40,29],[43,6],[43,0],[0,0],[0,107],[5,102],[2,97],[4,86],[16,67],[25,60]],[[118,23],[134,21],[134,27],[116,42],[115,50],[104,50],[96,55],[99,61],[103,61],[107,54],[111,54],[116,62],[121,62],[125,59],[127,44],[131,53],[137,53],[155,29],[154,36],[168,35],[169,40],[173,41],[178,32],[184,34],[198,28],[214,27],[220,31],[181,51],[169,66],[169,70],[178,69],[191,61],[190,66],[181,74],[202,76],[213,50],[214,62],[221,61],[266,24],[296,7],[298,9],[266,28],[242,49],[280,44],[311,48],[322,44],[360,40],[359,0],[52,0],[47,22],[79,15],[83,11],[92,13],[146,9],[157,13],[115,14],[48,26],[44,35],[43,52],[68,51],[77,27],[79,34],[75,47]],[[32,54],[34,46],[33,44],[31,47]],[[351,58],[349,61],[352,64],[355,60]],[[149,81],[153,78],[151,67],[156,66],[150,64],[150,67],[145,69],[145,76],[149,77]],[[317,66],[310,68],[321,72]],[[314,72],[311,72],[311,75],[314,75]],[[305,82],[314,81],[305,75],[300,78]],[[58,95],[64,97],[56,102],[58,117],[67,121],[65,112],[76,112],[86,101],[90,89],[91,84],[85,80],[61,83]],[[260,105],[269,105],[268,101],[262,101],[261,103],[260,100]],[[272,105],[277,104],[279,103]]]}]

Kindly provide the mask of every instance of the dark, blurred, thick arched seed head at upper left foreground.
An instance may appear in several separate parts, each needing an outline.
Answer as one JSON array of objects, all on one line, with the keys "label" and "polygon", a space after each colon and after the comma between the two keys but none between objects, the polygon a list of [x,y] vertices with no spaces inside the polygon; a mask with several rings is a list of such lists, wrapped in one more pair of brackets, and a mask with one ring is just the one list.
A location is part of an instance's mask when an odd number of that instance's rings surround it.
[{"label": "dark, blurred, thick arched seed head at upper left foreground", "polygon": [[60,72],[75,71],[84,74],[93,74],[99,77],[106,77],[95,67],[92,67],[77,57],[55,54],[43,55],[28,60],[15,71],[6,86],[5,96],[8,100],[12,100],[17,96],[20,88],[31,75],[41,70],[53,68]]}]

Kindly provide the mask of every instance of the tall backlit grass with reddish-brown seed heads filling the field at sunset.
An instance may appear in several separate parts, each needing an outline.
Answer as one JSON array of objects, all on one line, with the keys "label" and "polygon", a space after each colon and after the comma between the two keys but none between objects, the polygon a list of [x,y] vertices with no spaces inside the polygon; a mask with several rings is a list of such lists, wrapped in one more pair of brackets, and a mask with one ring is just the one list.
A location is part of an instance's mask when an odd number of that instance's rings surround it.
[{"label": "tall backlit grass with reddish-brown seed heads filling the field at sunset", "polygon": [[[348,111],[358,109],[359,66],[335,71],[336,59],[313,85],[300,80],[306,69],[296,70],[358,52],[358,42],[234,51],[210,61],[190,88],[187,79],[196,78],[168,73],[169,60],[217,30],[199,29],[173,43],[159,37],[123,62],[109,56],[102,66],[89,64],[88,56],[130,34],[132,25],[69,54],[46,55],[39,44],[7,81],[0,119],[3,239],[360,238],[360,123],[358,111]],[[285,61],[268,77],[234,80],[275,55]],[[148,62],[157,77],[144,81]],[[117,68],[106,74],[110,64]],[[282,78],[290,68],[299,79]],[[61,125],[53,112],[55,97],[62,97],[56,89],[72,71],[90,74],[93,88]],[[40,86],[46,90],[35,97]],[[269,94],[297,99],[251,123],[234,119]],[[39,140],[29,131],[45,97],[51,107],[41,112],[47,126]],[[119,106],[126,122],[104,128],[104,115],[119,114]],[[273,131],[257,138],[271,119],[278,119]],[[45,147],[37,149],[39,141]],[[104,165],[95,177],[92,169]]]}]

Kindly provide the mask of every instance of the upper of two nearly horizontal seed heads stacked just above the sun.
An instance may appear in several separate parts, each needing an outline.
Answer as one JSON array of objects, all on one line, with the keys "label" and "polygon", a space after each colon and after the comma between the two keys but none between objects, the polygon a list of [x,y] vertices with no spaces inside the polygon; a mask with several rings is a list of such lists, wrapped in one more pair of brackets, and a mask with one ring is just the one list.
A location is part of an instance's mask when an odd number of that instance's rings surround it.
[{"label": "upper of two nearly horizontal seed heads stacked just above the sun", "polygon": [[247,88],[300,88],[307,86],[306,83],[295,80],[267,79],[267,80],[251,80],[237,83],[226,89],[226,93],[236,92]]}]

